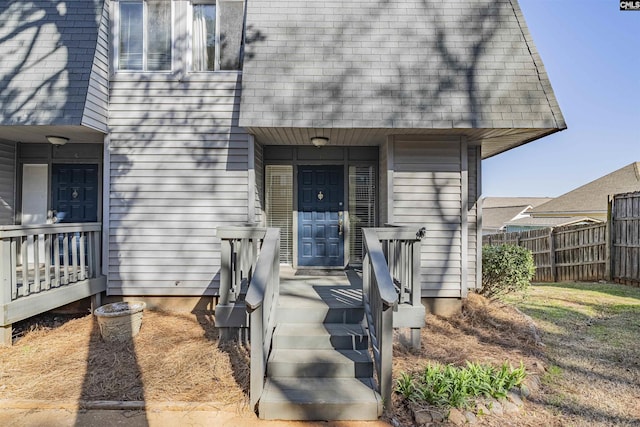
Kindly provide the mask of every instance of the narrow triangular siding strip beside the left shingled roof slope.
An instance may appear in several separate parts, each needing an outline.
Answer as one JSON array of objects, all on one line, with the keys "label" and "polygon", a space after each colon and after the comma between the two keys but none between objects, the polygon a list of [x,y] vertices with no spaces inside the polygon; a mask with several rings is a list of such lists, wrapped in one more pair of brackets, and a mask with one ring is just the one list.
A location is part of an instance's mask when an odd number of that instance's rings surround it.
[{"label": "narrow triangular siding strip beside the left shingled roof slope", "polygon": [[102,18],[98,28],[96,45],[87,98],[82,113],[82,124],[107,132],[109,114],[109,2],[104,2]]}]

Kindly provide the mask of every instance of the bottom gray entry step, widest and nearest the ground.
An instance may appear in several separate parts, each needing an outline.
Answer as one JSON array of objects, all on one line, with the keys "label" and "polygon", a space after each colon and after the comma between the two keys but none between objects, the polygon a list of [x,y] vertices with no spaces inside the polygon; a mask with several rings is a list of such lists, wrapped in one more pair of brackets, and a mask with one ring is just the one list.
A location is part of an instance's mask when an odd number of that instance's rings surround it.
[{"label": "bottom gray entry step, widest and nearest the ground", "polygon": [[271,377],[258,410],[267,420],[377,420],[382,399],[372,378]]}]

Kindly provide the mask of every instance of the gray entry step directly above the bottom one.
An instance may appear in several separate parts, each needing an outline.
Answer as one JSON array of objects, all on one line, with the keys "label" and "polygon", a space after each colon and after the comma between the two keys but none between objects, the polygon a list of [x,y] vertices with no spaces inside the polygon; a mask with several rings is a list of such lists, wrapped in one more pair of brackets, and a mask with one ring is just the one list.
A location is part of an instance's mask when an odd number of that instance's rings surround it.
[{"label": "gray entry step directly above the bottom one", "polygon": [[274,349],[267,362],[268,377],[373,377],[367,350]]}]

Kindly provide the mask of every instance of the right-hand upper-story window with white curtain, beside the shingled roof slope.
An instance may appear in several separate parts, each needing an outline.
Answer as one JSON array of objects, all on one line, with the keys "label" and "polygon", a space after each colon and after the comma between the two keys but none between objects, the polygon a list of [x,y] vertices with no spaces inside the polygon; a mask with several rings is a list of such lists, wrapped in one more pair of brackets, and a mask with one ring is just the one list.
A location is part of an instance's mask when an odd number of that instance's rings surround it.
[{"label": "right-hand upper-story window with white curtain, beside the shingled roof slope", "polygon": [[191,70],[240,70],[244,1],[193,1]]}]

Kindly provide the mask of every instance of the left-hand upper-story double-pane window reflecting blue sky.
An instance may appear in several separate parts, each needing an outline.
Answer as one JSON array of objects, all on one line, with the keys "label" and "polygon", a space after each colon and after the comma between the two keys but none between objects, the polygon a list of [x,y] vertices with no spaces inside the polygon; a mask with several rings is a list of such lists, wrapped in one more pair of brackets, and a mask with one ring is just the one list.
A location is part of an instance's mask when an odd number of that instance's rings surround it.
[{"label": "left-hand upper-story double-pane window reflecting blue sky", "polygon": [[118,69],[171,70],[171,2],[120,1]]}]

